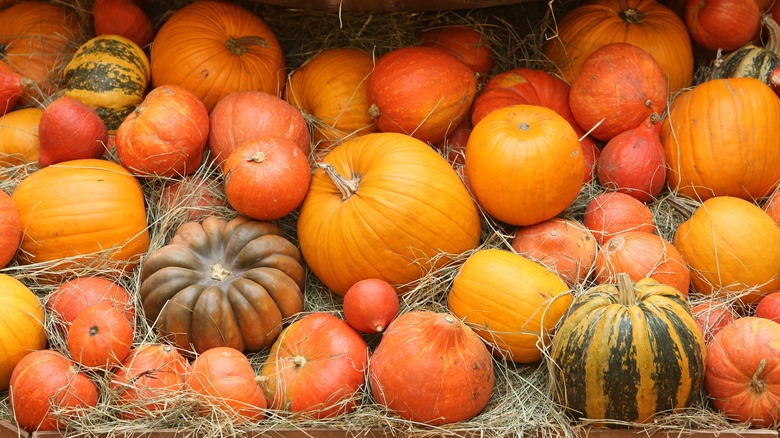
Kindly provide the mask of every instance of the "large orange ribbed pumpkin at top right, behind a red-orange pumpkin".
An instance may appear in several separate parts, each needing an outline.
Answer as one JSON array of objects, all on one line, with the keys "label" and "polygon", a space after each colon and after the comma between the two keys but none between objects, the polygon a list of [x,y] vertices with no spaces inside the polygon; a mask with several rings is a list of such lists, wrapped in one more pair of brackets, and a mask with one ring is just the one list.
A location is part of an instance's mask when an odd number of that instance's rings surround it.
[{"label": "large orange ribbed pumpkin at top right, behind a red-orange pumpkin", "polygon": [[591,0],[570,10],[549,35],[545,55],[572,82],[585,59],[613,42],[650,53],[669,77],[674,93],[691,84],[693,50],[685,23],[656,0]]}]

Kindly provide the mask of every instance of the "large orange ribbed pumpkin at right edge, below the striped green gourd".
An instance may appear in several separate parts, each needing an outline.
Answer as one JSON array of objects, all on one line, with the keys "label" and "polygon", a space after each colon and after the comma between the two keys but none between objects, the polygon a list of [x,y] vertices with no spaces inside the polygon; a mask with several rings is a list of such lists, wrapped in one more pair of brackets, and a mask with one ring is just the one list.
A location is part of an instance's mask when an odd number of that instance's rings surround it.
[{"label": "large orange ribbed pumpkin at right edge, below the striped green gourd", "polygon": [[780,99],[754,78],[713,79],[669,107],[661,143],[672,190],[706,200],[768,196],[780,181]]}]

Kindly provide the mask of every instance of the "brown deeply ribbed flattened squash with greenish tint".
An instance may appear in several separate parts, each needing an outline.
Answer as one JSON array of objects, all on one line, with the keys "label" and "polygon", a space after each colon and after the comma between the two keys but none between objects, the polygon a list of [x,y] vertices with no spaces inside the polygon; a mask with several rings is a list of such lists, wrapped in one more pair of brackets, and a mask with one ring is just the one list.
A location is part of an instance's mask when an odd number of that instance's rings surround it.
[{"label": "brown deeply ribbed flattened squash with greenish tint", "polygon": [[144,261],[138,293],[157,333],[181,350],[258,351],[303,310],[301,263],[276,225],[209,216]]}]

